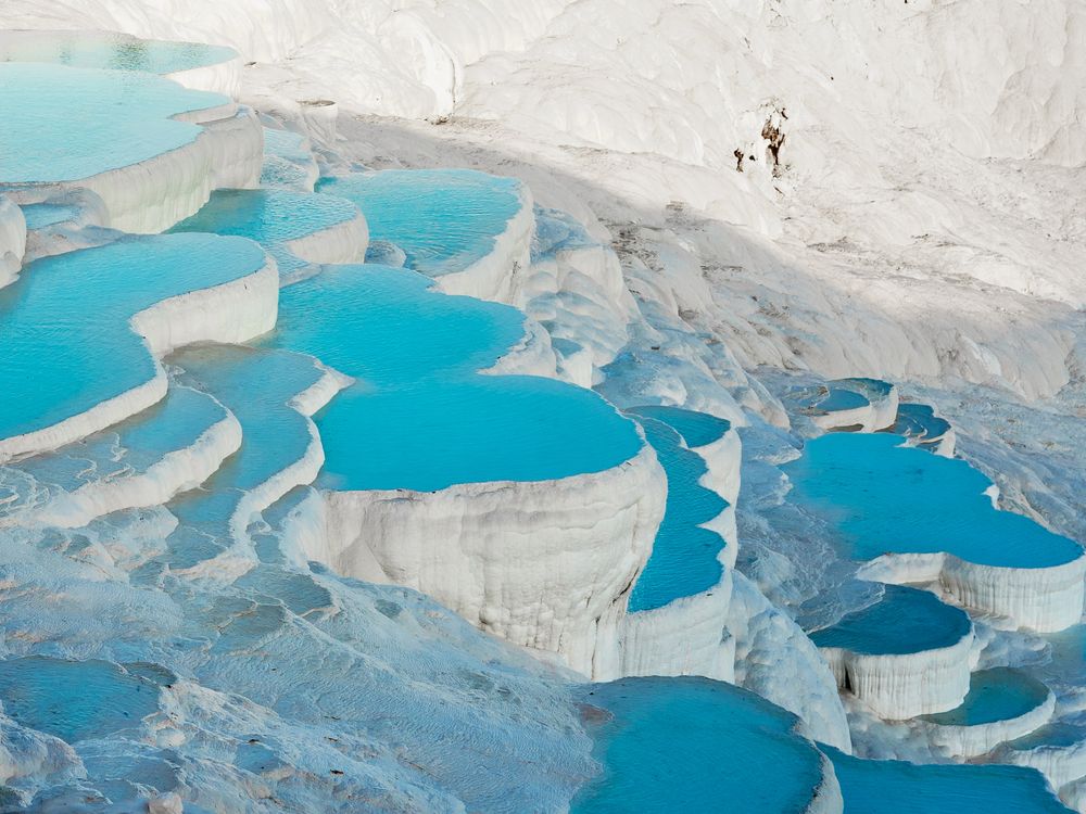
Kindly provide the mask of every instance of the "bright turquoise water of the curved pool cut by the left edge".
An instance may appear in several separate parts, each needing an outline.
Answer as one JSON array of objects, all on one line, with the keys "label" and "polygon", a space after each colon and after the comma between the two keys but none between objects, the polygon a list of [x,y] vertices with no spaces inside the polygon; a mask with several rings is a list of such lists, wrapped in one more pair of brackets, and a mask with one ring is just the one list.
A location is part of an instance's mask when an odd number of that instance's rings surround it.
[{"label": "bright turquoise water of the curved pool cut by the left edge", "polygon": [[0,437],[50,427],[149,381],[154,364],[131,317],[263,265],[255,243],[213,234],[126,238],[31,263],[0,289]]}]

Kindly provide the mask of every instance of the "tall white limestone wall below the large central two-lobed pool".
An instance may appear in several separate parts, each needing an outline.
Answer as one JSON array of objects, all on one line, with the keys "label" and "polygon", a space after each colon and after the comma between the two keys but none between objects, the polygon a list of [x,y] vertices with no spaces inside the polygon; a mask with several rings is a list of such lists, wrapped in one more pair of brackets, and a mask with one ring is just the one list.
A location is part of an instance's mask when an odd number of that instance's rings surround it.
[{"label": "tall white limestone wall below the large central two-lobed pool", "polygon": [[596,673],[601,632],[626,609],[667,484],[647,445],[632,459],[557,481],[438,492],[324,492],[326,550],[343,574],[421,590],[514,644]]}]

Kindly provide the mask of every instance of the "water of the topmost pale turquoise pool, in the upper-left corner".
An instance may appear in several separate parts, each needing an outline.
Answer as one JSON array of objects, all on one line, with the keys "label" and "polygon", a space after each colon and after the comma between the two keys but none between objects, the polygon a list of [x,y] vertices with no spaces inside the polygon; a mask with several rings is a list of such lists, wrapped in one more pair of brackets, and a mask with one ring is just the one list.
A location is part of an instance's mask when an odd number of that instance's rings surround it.
[{"label": "water of the topmost pale turquoise pool, in the upper-left corner", "polygon": [[143,40],[110,31],[0,31],[0,62],[173,74],[237,56],[225,46]]}]

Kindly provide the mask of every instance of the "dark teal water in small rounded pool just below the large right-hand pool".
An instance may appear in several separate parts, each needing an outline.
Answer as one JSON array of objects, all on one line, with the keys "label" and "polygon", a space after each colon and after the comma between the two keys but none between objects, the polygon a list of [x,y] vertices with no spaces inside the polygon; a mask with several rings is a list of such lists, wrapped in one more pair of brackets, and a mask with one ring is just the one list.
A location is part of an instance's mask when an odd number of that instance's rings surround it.
[{"label": "dark teal water in small rounded pool just below the large right-hand pool", "polygon": [[958,644],[972,624],[965,611],[934,594],[886,585],[882,599],[810,634],[819,647],[858,653],[915,653]]}]

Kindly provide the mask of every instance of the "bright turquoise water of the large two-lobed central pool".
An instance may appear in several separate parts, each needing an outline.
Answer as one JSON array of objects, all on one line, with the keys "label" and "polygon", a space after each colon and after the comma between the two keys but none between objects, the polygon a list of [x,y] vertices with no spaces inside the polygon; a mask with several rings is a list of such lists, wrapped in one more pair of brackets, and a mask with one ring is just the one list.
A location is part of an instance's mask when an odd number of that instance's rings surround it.
[{"label": "bright turquoise water of the large two-lobed central pool", "polygon": [[383,266],[334,266],[283,289],[272,341],[359,381],[316,417],[321,483],[434,491],[609,469],[634,425],[595,393],[551,379],[480,376],[522,334],[514,308],[428,290]]}]

